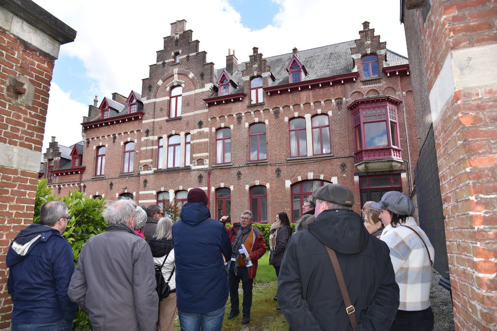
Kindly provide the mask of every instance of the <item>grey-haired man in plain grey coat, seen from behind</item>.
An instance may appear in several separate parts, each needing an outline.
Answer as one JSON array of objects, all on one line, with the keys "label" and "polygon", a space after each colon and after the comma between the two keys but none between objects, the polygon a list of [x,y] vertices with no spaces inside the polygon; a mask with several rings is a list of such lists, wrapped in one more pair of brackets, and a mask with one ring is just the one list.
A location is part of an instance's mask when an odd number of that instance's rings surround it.
[{"label": "grey-haired man in plain grey coat, seen from behind", "polygon": [[135,231],[136,202],[120,199],[103,212],[107,231],[84,244],[69,297],[92,330],[156,330],[159,297],[152,252]]}]

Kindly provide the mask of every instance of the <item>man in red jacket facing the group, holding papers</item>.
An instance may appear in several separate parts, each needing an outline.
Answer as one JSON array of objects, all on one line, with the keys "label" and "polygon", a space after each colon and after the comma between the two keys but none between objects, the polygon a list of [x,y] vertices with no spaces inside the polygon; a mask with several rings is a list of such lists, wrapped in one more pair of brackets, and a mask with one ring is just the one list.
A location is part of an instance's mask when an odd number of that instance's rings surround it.
[{"label": "man in red jacket facing the group, holding papers", "polygon": [[[221,222],[225,223],[228,217],[223,216]],[[230,281],[230,302],[231,312],[228,316],[229,320],[234,319],[240,314],[240,301],[238,299],[238,287],[242,281],[242,288],[244,290],[244,298],[242,302],[243,319],[242,324],[250,323],[250,307],[252,306],[252,285],[253,279],[257,272],[257,260],[266,252],[266,243],[264,236],[259,229],[252,227],[253,214],[251,211],[246,210],[240,217],[240,223],[233,224],[232,227],[226,228],[230,236],[232,244],[232,256],[236,265],[233,270],[229,272]],[[243,258],[239,253],[239,249],[245,246],[248,256]],[[226,258],[230,260],[229,257]],[[247,267],[246,264],[252,263]]]}]

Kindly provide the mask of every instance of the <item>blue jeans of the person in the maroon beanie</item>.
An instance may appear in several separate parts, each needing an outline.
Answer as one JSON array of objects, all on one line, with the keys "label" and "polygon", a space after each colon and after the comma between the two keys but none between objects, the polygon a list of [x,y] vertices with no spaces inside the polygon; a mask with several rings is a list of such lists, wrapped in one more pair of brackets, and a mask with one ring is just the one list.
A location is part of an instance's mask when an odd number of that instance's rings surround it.
[{"label": "blue jeans of the person in the maroon beanie", "polygon": [[178,309],[181,331],[220,331],[223,326],[224,306],[210,313],[183,313]]}]

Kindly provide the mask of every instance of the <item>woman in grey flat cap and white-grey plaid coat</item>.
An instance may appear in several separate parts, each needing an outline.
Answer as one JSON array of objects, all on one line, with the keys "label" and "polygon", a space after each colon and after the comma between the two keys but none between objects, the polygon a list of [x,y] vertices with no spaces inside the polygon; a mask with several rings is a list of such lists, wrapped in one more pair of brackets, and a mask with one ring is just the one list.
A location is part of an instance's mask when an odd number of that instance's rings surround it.
[{"label": "woman in grey flat cap and white-grey plaid coat", "polygon": [[390,191],[371,208],[380,210],[385,227],[380,240],[390,248],[395,280],[400,289],[400,306],[390,331],[431,331],[433,311],[429,297],[435,251],[412,217],[413,202],[401,192]]}]

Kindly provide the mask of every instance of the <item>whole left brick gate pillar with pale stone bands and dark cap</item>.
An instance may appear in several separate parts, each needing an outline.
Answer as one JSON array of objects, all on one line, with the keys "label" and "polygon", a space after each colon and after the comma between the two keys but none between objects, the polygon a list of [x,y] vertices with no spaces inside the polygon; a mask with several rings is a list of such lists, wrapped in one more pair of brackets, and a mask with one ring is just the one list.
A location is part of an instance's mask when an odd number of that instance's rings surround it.
[{"label": "whole left brick gate pillar with pale stone bands and dark cap", "polygon": [[30,0],[0,0],[0,330],[12,312],[5,255],[33,222],[54,62],[75,37]]}]

